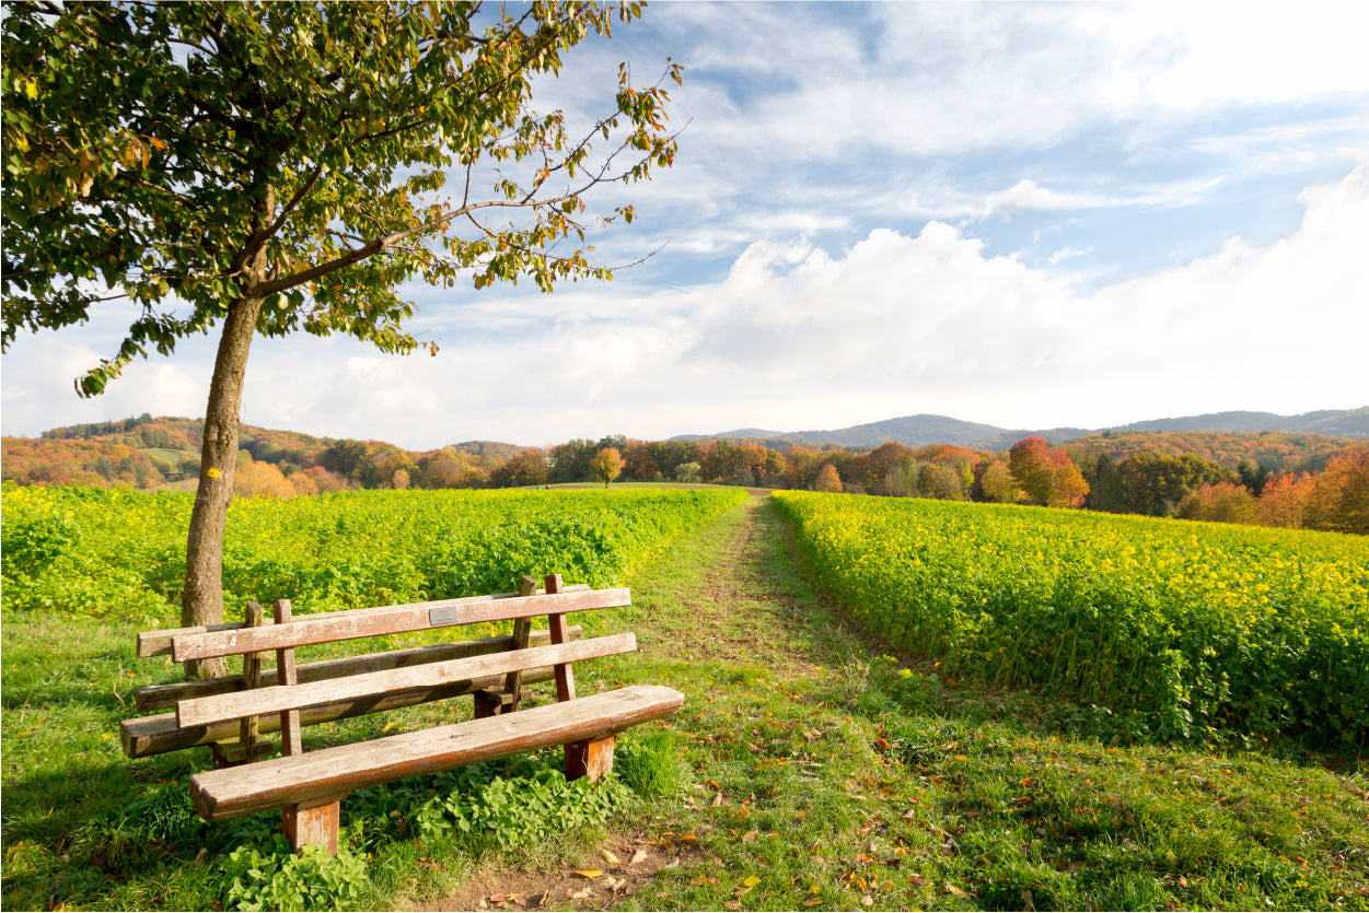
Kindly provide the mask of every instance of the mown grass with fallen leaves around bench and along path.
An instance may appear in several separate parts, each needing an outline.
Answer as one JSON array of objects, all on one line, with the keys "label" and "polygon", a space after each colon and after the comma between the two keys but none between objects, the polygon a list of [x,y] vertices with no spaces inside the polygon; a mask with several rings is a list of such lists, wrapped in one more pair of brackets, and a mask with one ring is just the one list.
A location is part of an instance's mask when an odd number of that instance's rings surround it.
[{"label": "mown grass with fallen leaves around bench and along path", "polygon": [[[635,835],[669,862],[653,880],[612,899],[602,880],[572,880],[583,897],[546,905],[1369,909],[1369,793],[1354,757],[1113,745],[1076,735],[1090,731],[1087,708],[949,686],[832,610],[761,498],[630,583],[631,608],[582,623],[587,635],[632,630],[641,652],[580,664],[576,678],[582,693],[648,682],[687,695],[671,721],[620,741],[617,773],[637,798],[604,825],[500,849],[416,839],[408,821],[426,782],[349,797],[346,840],[370,854],[352,906],[606,868],[604,842]],[[201,825],[185,780],[204,758],[123,757],[129,691],[164,672],[133,657],[134,632],[5,619],[5,909],[211,908],[227,853],[271,825],[268,814]],[[371,738],[450,713],[430,705],[308,738]]]}]

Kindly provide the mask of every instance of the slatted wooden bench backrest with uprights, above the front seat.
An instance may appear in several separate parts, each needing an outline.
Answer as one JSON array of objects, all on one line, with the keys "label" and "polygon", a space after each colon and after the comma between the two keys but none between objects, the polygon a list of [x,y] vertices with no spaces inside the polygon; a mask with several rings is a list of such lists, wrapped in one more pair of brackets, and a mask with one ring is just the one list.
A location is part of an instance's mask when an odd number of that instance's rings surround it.
[{"label": "slatted wooden bench backrest with uprights, above the front seat", "polygon": [[[138,689],[140,710],[175,708],[174,713],[126,720],[120,730],[125,753],[145,757],[163,751],[225,742],[241,734],[281,730],[286,751],[298,750],[298,727],[346,719],[426,701],[479,693],[502,686],[516,701],[524,682],[557,680],[560,699],[574,697],[571,663],[635,650],[631,634],[578,639],[571,612],[631,605],[627,589],[561,590],[559,575],[545,591],[530,578],[516,594],[441,600],[290,616],[289,602],[275,606],[275,619],[256,609],[256,619],[209,628],[149,631],[138,635],[140,656],[170,654],[177,661],[244,656],[244,673]],[[255,608],[255,606],[252,606]],[[548,616],[549,630],[533,632],[530,619]],[[294,647],[368,636],[515,620],[511,636],[482,638],[408,650],[329,660],[294,667]],[[264,652],[277,653],[277,669],[263,671]],[[264,687],[286,684],[289,687]],[[292,720],[294,721],[292,725]],[[251,738],[248,738],[251,721]],[[290,743],[294,743],[293,746]]]}]

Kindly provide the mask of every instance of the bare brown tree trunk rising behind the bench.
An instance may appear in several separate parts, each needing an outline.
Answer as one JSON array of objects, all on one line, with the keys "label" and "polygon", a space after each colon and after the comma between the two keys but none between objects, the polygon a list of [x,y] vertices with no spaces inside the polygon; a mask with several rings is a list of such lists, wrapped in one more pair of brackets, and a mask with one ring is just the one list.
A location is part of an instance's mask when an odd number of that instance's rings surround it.
[{"label": "bare brown tree trunk rising behind the bench", "polygon": [[[190,513],[185,548],[185,587],[181,591],[181,626],[218,624],[223,620],[223,530],[233,501],[233,471],[238,463],[238,412],[246,376],[248,348],[256,333],[260,298],[238,298],[229,305],[219,337],[219,355],[209,381],[209,405],[204,413],[200,448],[200,487]],[[222,658],[189,661],[188,678],[226,673]]]}]

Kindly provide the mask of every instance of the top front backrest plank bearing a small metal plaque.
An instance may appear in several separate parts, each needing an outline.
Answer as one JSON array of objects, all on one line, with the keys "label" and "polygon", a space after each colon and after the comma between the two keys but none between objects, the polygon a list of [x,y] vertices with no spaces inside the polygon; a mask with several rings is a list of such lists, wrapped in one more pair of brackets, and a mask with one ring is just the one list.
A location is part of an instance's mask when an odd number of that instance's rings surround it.
[{"label": "top front backrest plank bearing a small metal plaque", "polygon": [[501,621],[548,615],[549,612],[606,609],[631,605],[631,591],[627,587],[511,597],[493,602],[461,602],[457,600],[415,602],[364,613],[301,616],[293,624],[270,624],[255,630],[242,628],[237,631],[178,635],[171,638],[171,657],[177,663],[185,663],[188,660],[205,660],[216,656],[233,656],[235,653],[279,650],[282,647],[305,646],[309,643],[330,643],[383,634],[424,631],[449,624]]}]

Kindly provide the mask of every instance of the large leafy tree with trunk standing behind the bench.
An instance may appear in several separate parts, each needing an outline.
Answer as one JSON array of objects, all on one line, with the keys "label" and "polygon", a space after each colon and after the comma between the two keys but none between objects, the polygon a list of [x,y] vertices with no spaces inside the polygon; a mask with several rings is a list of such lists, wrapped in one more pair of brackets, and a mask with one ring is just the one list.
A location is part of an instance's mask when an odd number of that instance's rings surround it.
[{"label": "large leafy tree with trunk standing behind the bench", "polygon": [[134,357],[218,327],[185,624],[223,612],[255,334],[346,333],[407,353],[420,344],[401,282],[608,278],[575,246],[586,194],[648,178],[676,149],[661,82],[634,88],[626,66],[616,110],[578,133],[530,107],[537,77],[637,3],[16,0],[5,14],[3,348],[127,300],[118,352],[77,382],[93,396]]}]

